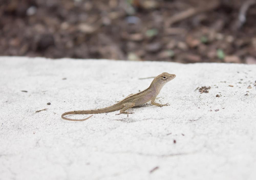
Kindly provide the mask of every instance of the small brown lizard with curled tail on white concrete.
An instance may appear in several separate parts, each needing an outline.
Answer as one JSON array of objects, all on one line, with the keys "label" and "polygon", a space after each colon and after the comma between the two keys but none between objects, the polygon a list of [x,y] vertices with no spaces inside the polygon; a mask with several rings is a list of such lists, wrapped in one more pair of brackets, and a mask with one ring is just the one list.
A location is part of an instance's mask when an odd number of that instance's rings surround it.
[{"label": "small brown lizard with curled tail on white concrete", "polygon": [[145,89],[144,91],[138,92],[136,94],[130,94],[123,100],[117,102],[116,104],[112,106],[108,106],[105,108],[101,109],[94,109],[94,110],[79,110],[79,111],[68,111],[65,112],[61,115],[62,119],[69,120],[69,121],[84,121],[86,119],[89,119],[93,115],[84,118],[84,119],[70,119],[67,117],[64,117],[68,114],[97,114],[97,113],[108,113],[112,111],[117,111],[120,110],[119,114],[122,113],[127,113],[128,114],[133,114],[133,113],[128,113],[126,110],[130,109],[131,107],[136,107],[142,104],[145,104],[149,101],[151,101],[151,104],[156,105],[156,106],[167,106],[169,105],[168,103],[166,104],[159,104],[155,102],[156,96],[159,94],[160,90],[162,87],[169,82],[170,80],[174,79],[176,77],[175,74],[169,74],[169,73],[162,73],[158,76],[156,76],[150,86]]}]

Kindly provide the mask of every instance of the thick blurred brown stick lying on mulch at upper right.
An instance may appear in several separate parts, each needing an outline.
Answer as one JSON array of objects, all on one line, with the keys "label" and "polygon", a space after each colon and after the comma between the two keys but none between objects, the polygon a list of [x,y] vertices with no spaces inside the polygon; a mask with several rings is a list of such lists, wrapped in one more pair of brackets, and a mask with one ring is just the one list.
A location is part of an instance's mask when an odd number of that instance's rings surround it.
[{"label": "thick blurred brown stick lying on mulch at upper right", "polygon": [[175,22],[179,22],[182,20],[185,20],[191,16],[194,16],[198,13],[210,11],[212,9],[217,8],[220,5],[220,1],[212,1],[212,3],[205,4],[204,6],[200,6],[197,8],[189,8],[185,11],[182,11],[174,16],[172,16],[170,19],[168,19],[165,23],[165,27],[171,26]]}]

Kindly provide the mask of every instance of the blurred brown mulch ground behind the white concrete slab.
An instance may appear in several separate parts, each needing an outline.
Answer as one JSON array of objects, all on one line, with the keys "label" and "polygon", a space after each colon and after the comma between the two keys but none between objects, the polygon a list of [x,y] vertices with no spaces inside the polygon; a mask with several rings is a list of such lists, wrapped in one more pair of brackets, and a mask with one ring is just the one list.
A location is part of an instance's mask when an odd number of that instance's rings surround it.
[{"label": "blurred brown mulch ground behind the white concrete slab", "polygon": [[256,64],[256,0],[0,0],[0,56]]}]

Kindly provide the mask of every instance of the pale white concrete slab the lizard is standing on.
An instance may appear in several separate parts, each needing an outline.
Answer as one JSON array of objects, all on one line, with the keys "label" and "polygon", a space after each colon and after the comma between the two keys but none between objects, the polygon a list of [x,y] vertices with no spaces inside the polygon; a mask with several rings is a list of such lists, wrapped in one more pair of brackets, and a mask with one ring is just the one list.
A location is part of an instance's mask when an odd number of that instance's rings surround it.
[{"label": "pale white concrete slab the lizard is standing on", "polygon": [[[176,78],[158,101],[170,106],[60,118],[165,71]],[[0,72],[0,180],[256,179],[256,65],[0,57]]]}]

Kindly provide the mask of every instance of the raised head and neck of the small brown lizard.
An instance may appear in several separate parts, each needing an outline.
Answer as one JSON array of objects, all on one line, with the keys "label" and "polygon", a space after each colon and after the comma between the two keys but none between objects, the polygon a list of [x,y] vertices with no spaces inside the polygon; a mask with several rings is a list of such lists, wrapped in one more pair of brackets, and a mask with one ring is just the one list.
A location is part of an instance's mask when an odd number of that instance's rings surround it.
[{"label": "raised head and neck of the small brown lizard", "polygon": [[159,93],[162,87],[170,80],[173,80],[175,77],[175,74],[162,73],[155,77],[150,85],[150,88],[154,89],[154,91]]}]

